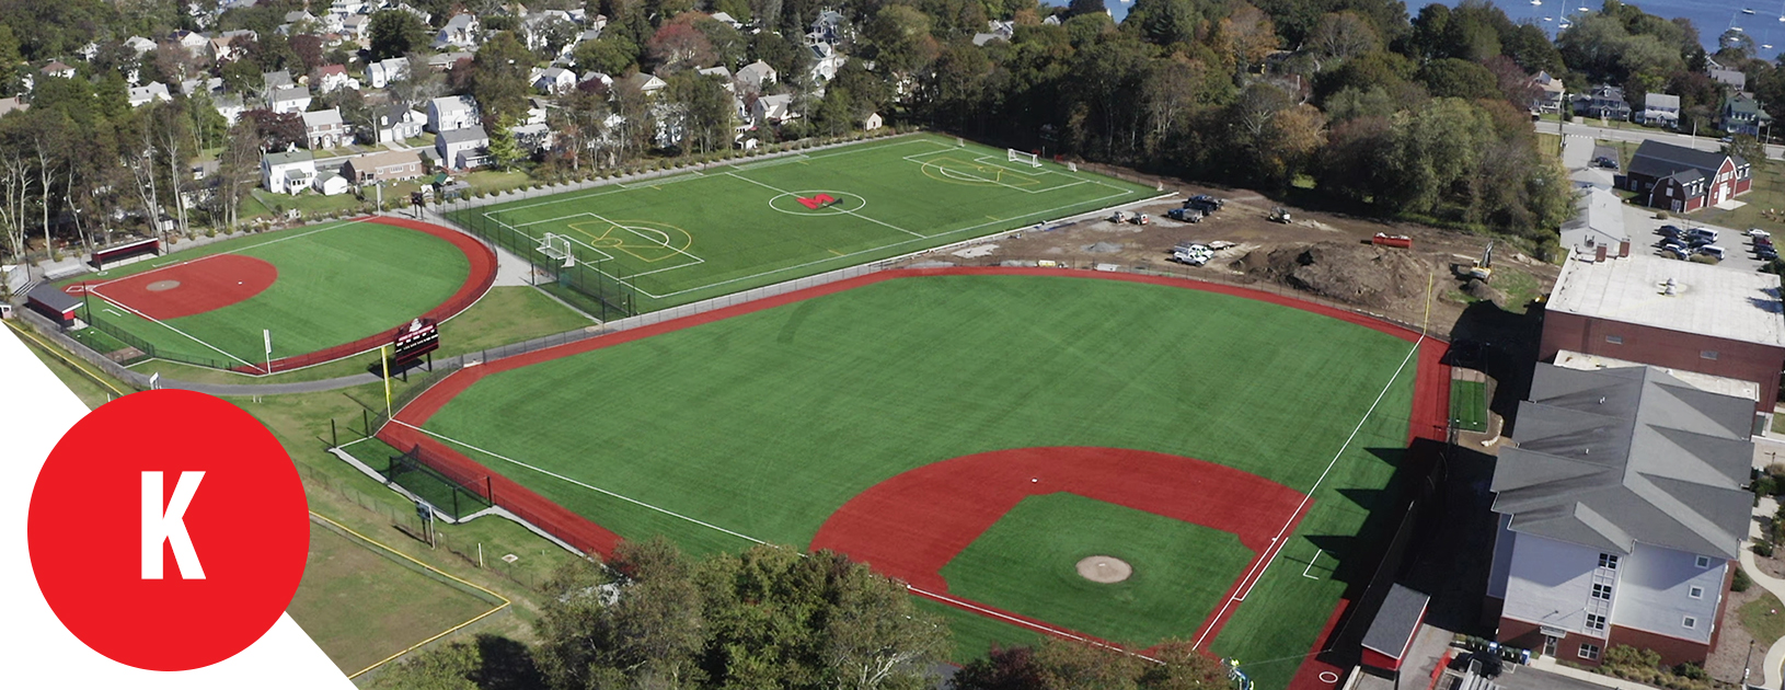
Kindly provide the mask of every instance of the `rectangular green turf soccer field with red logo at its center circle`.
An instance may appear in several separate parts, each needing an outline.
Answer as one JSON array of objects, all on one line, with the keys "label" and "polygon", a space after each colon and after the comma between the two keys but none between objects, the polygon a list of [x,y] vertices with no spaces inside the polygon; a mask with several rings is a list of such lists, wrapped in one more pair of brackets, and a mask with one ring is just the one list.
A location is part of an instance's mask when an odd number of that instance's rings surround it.
[{"label": "rectangular green turf soccer field with red logo at its center circle", "polygon": [[[828,193],[835,205],[798,198]],[[453,212],[571,239],[650,312],[1155,196],[1001,148],[907,136]]]}]

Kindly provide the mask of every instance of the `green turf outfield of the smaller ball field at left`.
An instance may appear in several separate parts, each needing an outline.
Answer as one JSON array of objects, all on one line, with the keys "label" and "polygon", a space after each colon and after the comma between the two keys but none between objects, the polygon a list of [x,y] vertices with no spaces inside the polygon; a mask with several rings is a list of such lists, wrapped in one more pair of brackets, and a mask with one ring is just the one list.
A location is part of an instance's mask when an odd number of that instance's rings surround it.
[{"label": "green turf outfield of the smaller ball field at left", "polygon": [[164,324],[98,300],[89,300],[91,312],[82,310],[82,317],[123,328],[168,357],[214,360],[228,367],[266,358],[262,328],[273,332],[273,358],[396,328],[446,301],[471,273],[464,253],[439,237],[393,225],[346,221],[241,237],[86,280],[116,280],[218,253],[266,260],[278,269],[278,280],[245,301]]}]

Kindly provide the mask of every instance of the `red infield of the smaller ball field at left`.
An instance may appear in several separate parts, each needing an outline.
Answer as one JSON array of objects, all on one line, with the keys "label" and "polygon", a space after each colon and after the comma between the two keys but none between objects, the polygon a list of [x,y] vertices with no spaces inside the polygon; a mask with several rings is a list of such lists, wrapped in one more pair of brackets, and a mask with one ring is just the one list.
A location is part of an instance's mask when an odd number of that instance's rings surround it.
[{"label": "red infield of the smaller ball field at left", "polygon": [[278,280],[278,267],[255,257],[218,253],[105,282],[64,285],[68,294],[93,292],[150,319],[168,321],[223,308],[261,294]]}]

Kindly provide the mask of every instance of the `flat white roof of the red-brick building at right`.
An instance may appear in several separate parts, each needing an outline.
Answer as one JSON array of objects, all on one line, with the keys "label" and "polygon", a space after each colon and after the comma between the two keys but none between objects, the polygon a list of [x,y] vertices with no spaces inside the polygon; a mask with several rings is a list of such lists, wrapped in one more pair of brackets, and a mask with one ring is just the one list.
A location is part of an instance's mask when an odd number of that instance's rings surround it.
[{"label": "flat white roof of the red-brick building at right", "polygon": [[1571,251],[1548,310],[1785,348],[1780,276],[1610,250],[1603,262]]}]

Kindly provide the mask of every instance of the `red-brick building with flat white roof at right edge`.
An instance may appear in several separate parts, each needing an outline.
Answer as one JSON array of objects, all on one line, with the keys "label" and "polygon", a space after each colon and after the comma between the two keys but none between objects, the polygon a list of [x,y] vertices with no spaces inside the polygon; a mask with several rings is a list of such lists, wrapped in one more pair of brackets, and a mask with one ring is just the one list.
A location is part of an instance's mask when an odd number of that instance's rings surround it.
[{"label": "red-brick building with flat white roof at right edge", "polygon": [[1544,312],[1539,358],[1558,351],[1756,383],[1773,412],[1785,367],[1780,278],[1660,257],[1571,253]]}]

